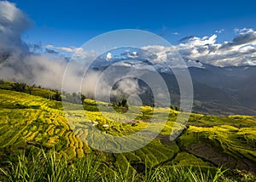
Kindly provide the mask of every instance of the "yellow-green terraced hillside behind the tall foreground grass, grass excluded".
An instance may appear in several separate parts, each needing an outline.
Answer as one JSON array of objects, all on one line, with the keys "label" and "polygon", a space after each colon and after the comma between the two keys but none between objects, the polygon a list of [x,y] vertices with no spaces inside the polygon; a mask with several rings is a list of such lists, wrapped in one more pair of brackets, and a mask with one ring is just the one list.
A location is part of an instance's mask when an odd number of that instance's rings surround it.
[{"label": "yellow-green terraced hillside behind the tall foreground grass, grass excluded", "polygon": [[[65,116],[61,102],[50,100],[56,94],[55,91],[33,88],[31,92],[16,92],[11,84],[0,84],[1,168],[9,168],[9,161],[18,162],[20,153],[29,158],[41,150],[48,153],[55,149],[56,155],[65,156],[67,161],[83,160],[89,154],[96,155],[110,171],[117,168],[126,170],[127,166],[137,171],[136,173],[144,173],[148,168],[167,170],[173,166],[194,166],[201,170],[213,170],[223,166],[230,168],[229,172],[233,174],[235,169],[243,171],[241,178],[249,172],[256,173],[256,117],[191,114],[186,125],[175,125],[177,111],[132,106],[130,110],[141,113],[135,116],[135,120],[122,123],[118,121],[125,120],[125,115],[109,112],[109,104],[89,99],[84,100],[84,110],[79,110],[79,105],[67,103],[70,111]],[[98,111],[96,104],[105,106],[106,110]],[[119,112],[124,109],[118,106],[115,108]],[[168,113],[168,121],[158,137],[143,148],[113,154],[96,151],[88,145],[87,141],[93,141],[96,137],[96,134],[89,134],[89,129],[91,131],[95,127],[102,130],[101,137],[104,137],[103,134],[134,134],[151,122],[153,110],[158,116]],[[88,117],[84,118],[84,114]],[[69,117],[76,118],[76,121],[68,123],[66,118]],[[92,126],[91,121],[98,122],[98,125]],[[104,128],[104,124],[109,127]],[[158,128],[157,123],[154,126]],[[169,135],[172,130],[182,128],[183,133],[171,141]]]}]

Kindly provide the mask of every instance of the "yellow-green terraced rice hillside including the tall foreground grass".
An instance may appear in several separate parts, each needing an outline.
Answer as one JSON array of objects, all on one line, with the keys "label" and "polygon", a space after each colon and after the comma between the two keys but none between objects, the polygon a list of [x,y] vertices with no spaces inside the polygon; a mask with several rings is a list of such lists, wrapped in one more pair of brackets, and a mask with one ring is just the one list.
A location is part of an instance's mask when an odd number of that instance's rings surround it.
[{"label": "yellow-green terraced rice hillside including the tall foreground grass", "polygon": [[[56,90],[0,82],[0,181],[256,180],[254,116],[192,113],[189,122],[177,124],[178,111],[144,105],[128,108],[138,111],[136,119],[117,122],[125,119],[122,105],[113,105],[113,113],[110,104],[83,98],[84,110],[68,102],[65,116],[60,98]],[[88,145],[96,137],[89,129],[101,130],[102,137],[134,134],[151,122],[153,110],[168,113],[168,121],[143,148],[111,153]],[[68,117],[76,122],[68,124]],[[173,129],[183,132],[170,140]]]}]

